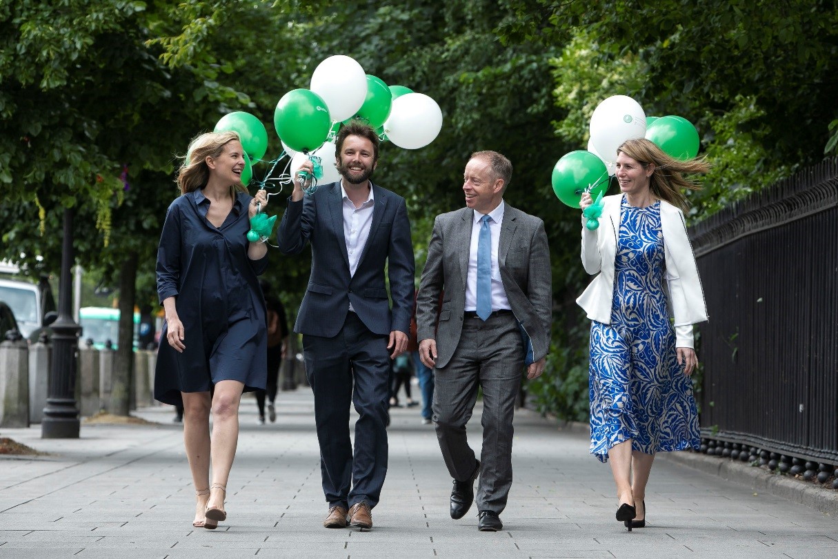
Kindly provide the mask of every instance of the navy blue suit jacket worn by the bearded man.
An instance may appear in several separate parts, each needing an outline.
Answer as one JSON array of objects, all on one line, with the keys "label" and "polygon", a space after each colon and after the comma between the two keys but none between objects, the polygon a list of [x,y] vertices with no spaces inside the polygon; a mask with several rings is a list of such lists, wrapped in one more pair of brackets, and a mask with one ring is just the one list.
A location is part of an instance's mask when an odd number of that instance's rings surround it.
[{"label": "navy blue suit jacket worn by the bearded man", "polygon": [[[370,183],[371,184],[371,183]],[[349,276],[340,183],[324,184],[292,202],[277,232],[279,250],[299,254],[312,247],[312,272],[294,332],[331,338],[344,324],[349,303],[374,334],[409,334],[415,263],[405,199],[372,185],[375,208],[355,275]],[[392,311],[387,300],[385,264]]]}]

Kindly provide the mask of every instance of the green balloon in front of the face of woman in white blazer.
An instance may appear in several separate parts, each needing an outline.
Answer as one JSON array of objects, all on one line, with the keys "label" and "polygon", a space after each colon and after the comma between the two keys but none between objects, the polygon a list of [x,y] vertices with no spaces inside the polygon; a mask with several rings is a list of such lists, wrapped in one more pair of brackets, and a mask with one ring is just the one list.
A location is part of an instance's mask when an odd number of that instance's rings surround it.
[{"label": "green balloon in front of the face of woman in white blazer", "polygon": [[566,153],[552,174],[553,192],[563,204],[579,209],[582,193],[590,188],[593,198],[608,190],[608,169],[603,160],[586,150]]}]

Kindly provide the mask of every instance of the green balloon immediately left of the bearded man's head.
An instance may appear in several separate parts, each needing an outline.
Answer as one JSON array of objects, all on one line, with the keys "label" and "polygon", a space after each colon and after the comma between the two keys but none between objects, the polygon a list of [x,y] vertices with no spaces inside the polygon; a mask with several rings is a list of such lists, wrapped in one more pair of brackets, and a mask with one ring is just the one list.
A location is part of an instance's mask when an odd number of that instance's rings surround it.
[{"label": "green balloon immediately left of the bearded man's head", "polygon": [[277,135],[288,148],[313,152],[323,145],[332,127],[326,101],[311,90],[288,91],[273,112]]}]

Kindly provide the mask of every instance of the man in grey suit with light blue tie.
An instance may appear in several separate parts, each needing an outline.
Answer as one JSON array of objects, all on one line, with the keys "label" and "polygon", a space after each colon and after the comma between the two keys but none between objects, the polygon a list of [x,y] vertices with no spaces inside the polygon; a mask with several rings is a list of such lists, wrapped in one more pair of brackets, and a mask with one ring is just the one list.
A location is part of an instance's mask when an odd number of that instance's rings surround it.
[{"label": "man in grey suit with light blue tie", "polygon": [[[504,203],[511,178],[512,163],[500,153],[472,154],[463,176],[466,207],[437,215],[416,303],[420,356],[436,379],[433,420],[454,479],[451,517],[468,512],[479,474],[480,531],[503,528],[515,396],[525,366],[528,379],[541,375],[550,346],[544,222]],[[478,386],[484,401],[480,461],[466,437]]]}]

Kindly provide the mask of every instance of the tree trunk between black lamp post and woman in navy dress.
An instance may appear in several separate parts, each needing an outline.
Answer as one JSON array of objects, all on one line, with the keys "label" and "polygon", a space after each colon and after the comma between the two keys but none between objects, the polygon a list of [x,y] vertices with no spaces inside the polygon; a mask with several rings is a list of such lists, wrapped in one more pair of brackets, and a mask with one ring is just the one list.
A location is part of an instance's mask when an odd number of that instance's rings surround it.
[{"label": "tree trunk between black lamp post and woman in navy dress", "polygon": [[111,403],[108,411],[127,416],[131,409],[134,370],[134,298],[137,282],[137,253],[129,252],[119,270],[119,347],[113,362]]}]

